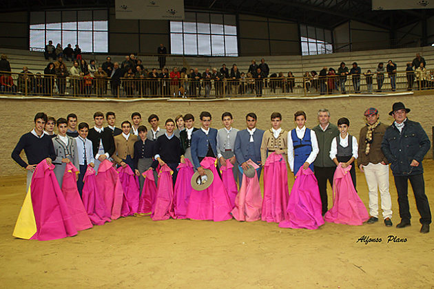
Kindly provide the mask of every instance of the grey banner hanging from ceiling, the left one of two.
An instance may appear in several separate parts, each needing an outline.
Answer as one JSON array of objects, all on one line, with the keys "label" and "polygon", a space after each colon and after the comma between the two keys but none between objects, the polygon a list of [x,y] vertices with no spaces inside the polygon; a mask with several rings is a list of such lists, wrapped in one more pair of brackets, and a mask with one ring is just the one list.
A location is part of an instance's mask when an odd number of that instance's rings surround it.
[{"label": "grey banner hanging from ceiling, the left one of two", "polygon": [[184,0],[116,0],[115,6],[116,19],[184,19]]}]

